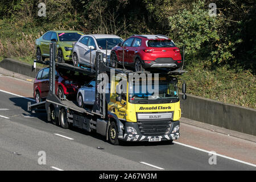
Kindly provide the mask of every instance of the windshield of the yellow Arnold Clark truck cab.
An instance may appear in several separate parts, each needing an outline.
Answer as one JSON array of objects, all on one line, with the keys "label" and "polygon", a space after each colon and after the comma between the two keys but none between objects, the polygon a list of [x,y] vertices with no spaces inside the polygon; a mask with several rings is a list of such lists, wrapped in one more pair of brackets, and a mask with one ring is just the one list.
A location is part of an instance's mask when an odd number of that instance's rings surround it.
[{"label": "windshield of the yellow Arnold Clark truck cab", "polygon": [[[130,84],[130,83],[129,83]],[[152,89],[154,89],[154,81],[152,81]],[[177,90],[177,84],[175,81],[160,80],[159,79],[159,93],[158,96],[155,93],[148,92],[148,86],[145,85],[144,88],[141,81],[135,82],[129,86],[129,100],[159,100],[159,99],[169,99],[169,98],[179,98],[179,93]]]}]

